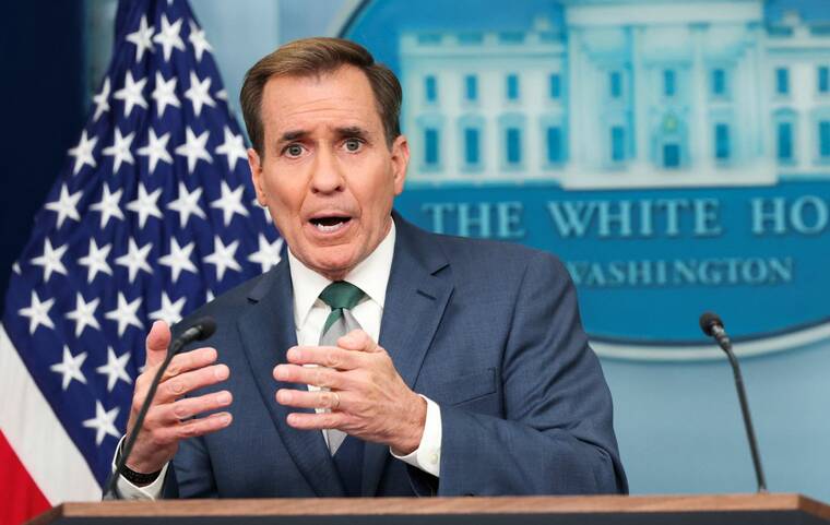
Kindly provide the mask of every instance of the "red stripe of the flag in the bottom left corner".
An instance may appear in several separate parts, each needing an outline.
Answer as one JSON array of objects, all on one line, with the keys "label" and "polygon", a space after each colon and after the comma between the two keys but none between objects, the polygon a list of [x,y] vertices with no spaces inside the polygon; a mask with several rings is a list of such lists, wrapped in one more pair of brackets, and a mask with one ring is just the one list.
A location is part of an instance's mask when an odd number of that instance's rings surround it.
[{"label": "red stripe of the flag in the bottom left corner", "polygon": [[17,525],[50,506],[0,431],[0,523]]}]

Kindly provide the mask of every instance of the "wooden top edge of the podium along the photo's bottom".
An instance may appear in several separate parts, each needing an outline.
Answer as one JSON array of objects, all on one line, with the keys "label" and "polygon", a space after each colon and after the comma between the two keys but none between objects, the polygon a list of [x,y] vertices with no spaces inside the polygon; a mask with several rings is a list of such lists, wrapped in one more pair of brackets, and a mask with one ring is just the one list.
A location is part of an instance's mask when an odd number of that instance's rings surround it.
[{"label": "wooden top edge of the podium along the photo's bottom", "polygon": [[29,525],[58,517],[332,516],[450,514],[629,514],[803,512],[830,524],[830,506],[795,493],[476,498],[309,498],[62,503]]}]

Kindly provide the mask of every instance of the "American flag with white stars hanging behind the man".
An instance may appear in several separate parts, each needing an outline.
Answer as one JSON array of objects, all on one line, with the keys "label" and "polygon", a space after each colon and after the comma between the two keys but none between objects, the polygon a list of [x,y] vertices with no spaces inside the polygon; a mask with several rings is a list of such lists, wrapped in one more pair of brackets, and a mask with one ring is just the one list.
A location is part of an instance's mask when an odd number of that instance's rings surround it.
[{"label": "American flag with white stars hanging behind the man", "polygon": [[185,0],[119,5],[111,63],[5,297],[2,523],[98,499],[150,325],[278,261],[211,50]]}]

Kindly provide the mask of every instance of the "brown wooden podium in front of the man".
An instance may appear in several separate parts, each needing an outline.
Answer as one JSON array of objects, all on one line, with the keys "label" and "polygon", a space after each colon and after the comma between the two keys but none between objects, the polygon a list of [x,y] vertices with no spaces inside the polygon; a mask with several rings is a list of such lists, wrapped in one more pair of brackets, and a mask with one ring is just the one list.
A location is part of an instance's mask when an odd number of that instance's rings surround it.
[{"label": "brown wooden podium in front of the man", "polygon": [[798,494],[363,498],[64,503],[29,524],[819,525],[830,506]]}]

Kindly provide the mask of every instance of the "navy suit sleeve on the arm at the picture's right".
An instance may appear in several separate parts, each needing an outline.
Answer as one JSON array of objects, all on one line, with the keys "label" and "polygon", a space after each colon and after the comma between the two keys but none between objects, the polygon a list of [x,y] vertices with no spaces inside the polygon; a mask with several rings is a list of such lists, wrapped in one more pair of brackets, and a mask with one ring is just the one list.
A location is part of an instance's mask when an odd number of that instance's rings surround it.
[{"label": "navy suit sleeve on the arm at the picture's right", "polygon": [[441,405],[441,477],[432,478],[438,496],[628,491],[610,393],[582,330],[570,276],[548,254],[525,269],[501,387],[503,418]]}]

